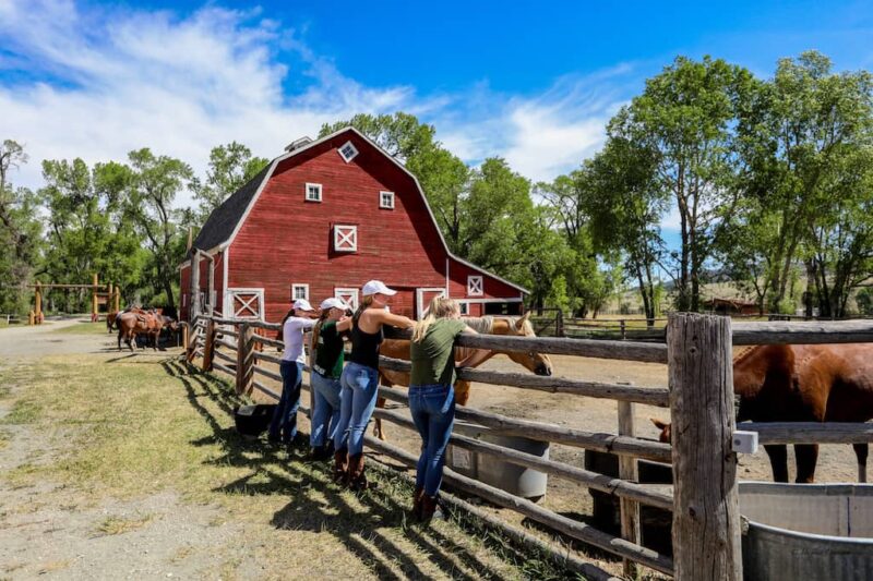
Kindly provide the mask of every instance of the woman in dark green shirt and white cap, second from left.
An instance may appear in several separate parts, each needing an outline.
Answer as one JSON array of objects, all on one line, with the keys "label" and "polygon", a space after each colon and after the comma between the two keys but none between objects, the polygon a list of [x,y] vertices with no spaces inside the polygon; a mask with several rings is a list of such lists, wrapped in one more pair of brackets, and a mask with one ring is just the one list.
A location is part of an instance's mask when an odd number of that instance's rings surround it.
[{"label": "woman in dark green shirt and white cap, second from left", "polygon": [[343,387],[343,335],[336,324],[346,318],[346,303],[331,298],[322,301],[321,316],[312,328],[312,429],[309,445],[312,460],[330,458],[330,441],[336,441],[339,423],[339,394]]}]

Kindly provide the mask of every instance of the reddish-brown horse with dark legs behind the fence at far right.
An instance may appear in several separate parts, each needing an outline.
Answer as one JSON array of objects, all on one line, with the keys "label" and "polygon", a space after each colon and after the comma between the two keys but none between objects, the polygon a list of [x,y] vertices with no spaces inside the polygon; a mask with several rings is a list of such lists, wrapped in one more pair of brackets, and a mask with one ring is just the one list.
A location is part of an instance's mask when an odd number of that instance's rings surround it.
[{"label": "reddish-brown horse with dark legs behind the fence at far right", "polygon": [[[873,419],[873,343],[757,346],[733,360],[737,421],[866,422]],[[671,426],[653,420],[660,440]],[[677,434],[678,435],[678,434]],[[868,445],[853,444],[858,480],[866,482]],[[773,479],[788,482],[788,449],[765,445]],[[817,444],[796,444],[798,483],[812,483]]]}]

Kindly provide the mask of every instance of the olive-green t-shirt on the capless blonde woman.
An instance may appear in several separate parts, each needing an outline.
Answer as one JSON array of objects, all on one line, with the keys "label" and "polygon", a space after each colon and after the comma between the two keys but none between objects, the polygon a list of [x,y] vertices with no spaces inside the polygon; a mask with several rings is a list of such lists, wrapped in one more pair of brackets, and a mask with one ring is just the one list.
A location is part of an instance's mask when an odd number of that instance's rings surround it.
[{"label": "olive-green t-shirt on the capless blonde woman", "polygon": [[452,385],[455,383],[455,339],[467,328],[456,318],[434,320],[421,341],[410,344],[410,385]]}]

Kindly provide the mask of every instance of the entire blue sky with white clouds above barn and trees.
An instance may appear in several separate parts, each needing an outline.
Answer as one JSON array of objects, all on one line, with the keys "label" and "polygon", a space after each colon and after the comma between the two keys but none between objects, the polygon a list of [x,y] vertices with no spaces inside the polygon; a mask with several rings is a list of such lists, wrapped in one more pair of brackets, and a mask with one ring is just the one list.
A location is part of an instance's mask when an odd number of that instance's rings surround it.
[{"label": "entire blue sky with white clouds above barn and trees", "polygon": [[219,143],[273,157],[324,122],[405,110],[471,164],[551,180],[677,55],[763,77],[812,48],[873,65],[870,2],[541,4],[0,0],[0,138],[26,145],[12,178],[36,186],[44,158],[150,146],[202,172]]}]

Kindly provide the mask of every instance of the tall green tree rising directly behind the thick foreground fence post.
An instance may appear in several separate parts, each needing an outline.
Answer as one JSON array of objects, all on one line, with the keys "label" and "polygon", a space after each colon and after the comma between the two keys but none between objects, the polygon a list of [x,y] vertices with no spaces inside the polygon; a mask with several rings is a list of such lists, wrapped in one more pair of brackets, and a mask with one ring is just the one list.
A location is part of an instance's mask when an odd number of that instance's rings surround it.
[{"label": "tall green tree rising directly behind the thick foreground fence post", "polygon": [[679,57],[609,124],[610,137],[647,150],[654,161],[648,187],[669,194],[679,214],[681,247],[662,266],[675,282],[680,310],[699,308],[704,266],[721,217],[739,197],[732,128],[751,82],[746,70],[723,60]]}]

